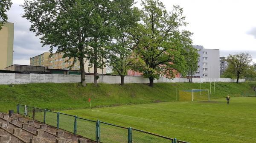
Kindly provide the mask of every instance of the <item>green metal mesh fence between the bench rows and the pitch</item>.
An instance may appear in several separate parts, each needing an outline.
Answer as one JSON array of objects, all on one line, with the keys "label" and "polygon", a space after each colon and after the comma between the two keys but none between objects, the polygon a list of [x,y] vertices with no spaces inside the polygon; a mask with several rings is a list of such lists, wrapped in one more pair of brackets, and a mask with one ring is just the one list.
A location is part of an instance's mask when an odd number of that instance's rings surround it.
[{"label": "green metal mesh fence between the bench rows and the pitch", "polygon": [[92,121],[26,105],[17,104],[17,113],[97,143],[188,143],[131,127],[117,126],[99,120]]}]

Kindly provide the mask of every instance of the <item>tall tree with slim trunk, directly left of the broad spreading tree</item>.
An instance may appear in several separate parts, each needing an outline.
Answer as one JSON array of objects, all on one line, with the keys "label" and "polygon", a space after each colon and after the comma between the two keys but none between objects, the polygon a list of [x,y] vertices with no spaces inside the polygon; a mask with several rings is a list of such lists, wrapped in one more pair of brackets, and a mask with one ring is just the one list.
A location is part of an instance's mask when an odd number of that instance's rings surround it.
[{"label": "tall tree with slim trunk, directly left of the broad spreading tree", "polygon": [[136,27],[140,20],[138,9],[132,8],[134,0],[116,0],[119,1],[113,7],[116,8],[115,26],[113,29],[112,43],[109,49],[110,66],[121,78],[121,85],[124,84],[125,75],[131,64],[131,53],[134,48],[130,31]]}]

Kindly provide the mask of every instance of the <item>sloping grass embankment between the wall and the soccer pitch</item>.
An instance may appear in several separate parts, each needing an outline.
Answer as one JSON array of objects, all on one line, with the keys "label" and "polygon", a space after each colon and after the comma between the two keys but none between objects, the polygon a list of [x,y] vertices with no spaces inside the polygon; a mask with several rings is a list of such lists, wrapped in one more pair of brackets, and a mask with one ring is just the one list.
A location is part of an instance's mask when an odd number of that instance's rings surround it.
[{"label": "sloping grass embankment between the wall and the soccer pitch", "polygon": [[[207,89],[210,89],[207,83]],[[211,98],[223,98],[228,93],[240,96],[243,92],[254,94],[254,83],[215,83],[216,93]],[[205,84],[202,84],[202,89]],[[34,107],[52,110],[89,108],[88,98],[92,107],[118,106],[125,104],[147,104],[154,102],[179,101],[179,91],[200,89],[200,83],[156,83],[154,87],[147,84],[80,84],[41,83],[20,84],[14,87],[0,85],[0,111],[16,109],[16,104],[26,104]],[[190,93],[188,93],[190,96]],[[189,99],[190,100],[190,99]]]}]

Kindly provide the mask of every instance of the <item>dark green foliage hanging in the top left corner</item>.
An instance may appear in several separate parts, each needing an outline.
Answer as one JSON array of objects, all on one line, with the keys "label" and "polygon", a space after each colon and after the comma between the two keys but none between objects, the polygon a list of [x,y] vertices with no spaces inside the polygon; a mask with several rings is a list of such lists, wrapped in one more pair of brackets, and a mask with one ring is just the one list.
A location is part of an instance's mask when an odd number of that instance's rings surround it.
[{"label": "dark green foliage hanging in the top left corner", "polygon": [[11,6],[11,0],[0,0],[0,30],[2,29],[4,22],[7,22],[8,20],[6,12],[10,10]]}]

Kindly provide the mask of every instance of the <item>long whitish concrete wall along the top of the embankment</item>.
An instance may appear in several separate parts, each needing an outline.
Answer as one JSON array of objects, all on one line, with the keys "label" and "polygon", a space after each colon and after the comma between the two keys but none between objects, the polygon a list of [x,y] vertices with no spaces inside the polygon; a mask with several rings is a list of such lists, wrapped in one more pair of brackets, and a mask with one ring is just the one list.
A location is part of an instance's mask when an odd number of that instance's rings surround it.
[{"label": "long whitish concrete wall along the top of the embankment", "polygon": [[[86,82],[93,83],[93,75],[86,75]],[[99,75],[98,82],[108,84],[119,84],[121,82],[120,76],[107,76]],[[193,78],[193,82],[236,82],[236,79],[225,79],[225,78]],[[28,84],[28,83],[76,83],[81,82],[81,75],[61,75],[61,74],[19,74],[19,73],[0,73],[0,84]],[[186,78],[175,78],[170,80],[165,77],[161,77],[158,80],[154,80],[155,83],[168,83],[168,82],[189,82]],[[245,79],[240,79],[239,82],[245,82]],[[148,79],[143,78],[142,76],[125,76],[125,83],[149,83]]]}]

